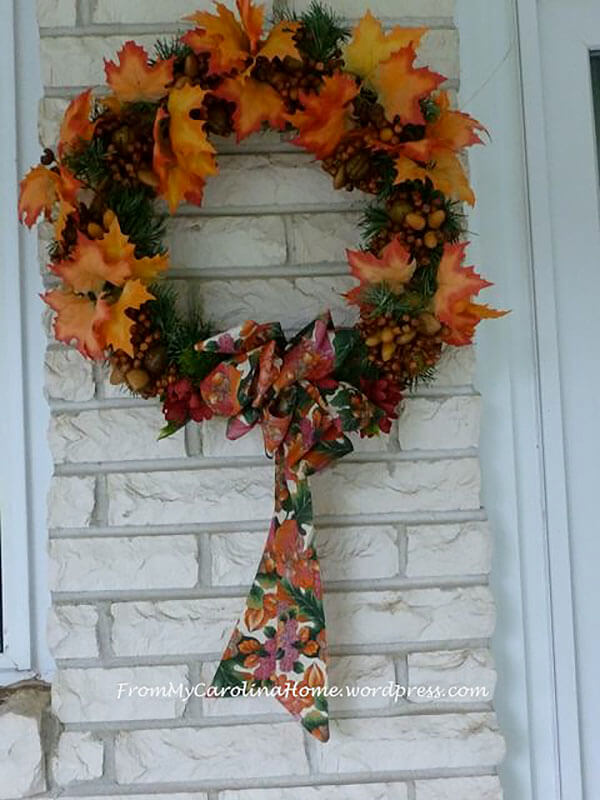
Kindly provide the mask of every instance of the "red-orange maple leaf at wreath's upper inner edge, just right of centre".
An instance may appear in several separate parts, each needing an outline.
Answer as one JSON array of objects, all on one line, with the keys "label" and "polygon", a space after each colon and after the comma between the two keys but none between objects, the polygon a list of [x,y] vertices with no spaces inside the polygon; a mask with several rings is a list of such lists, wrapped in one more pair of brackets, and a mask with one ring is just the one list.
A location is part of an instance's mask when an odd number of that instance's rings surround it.
[{"label": "red-orange maple leaf at wreath's upper inner edge, just right of centre", "polygon": [[317,158],[331,155],[346,133],[348,105],[357,94],[354,78],[342,72],[325,78],[319,94],[300,92],[304,110],[288,115],[299,134],[293,144],[310,150]]}]

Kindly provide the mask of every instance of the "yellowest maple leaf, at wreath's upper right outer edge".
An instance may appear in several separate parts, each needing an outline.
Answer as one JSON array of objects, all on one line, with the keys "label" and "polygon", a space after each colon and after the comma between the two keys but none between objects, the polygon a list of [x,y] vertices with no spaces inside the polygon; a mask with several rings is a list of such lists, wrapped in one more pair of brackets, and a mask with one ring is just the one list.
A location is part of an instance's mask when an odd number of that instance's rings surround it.
[{"label": "yellowest maple leaf, at wreath's upper right outer edge", "polygon": [[387,61],[398,50],[411,44],[418,47],[427,28],[397,26],[386,34],[379,20],[367,11],[352,33],[352,41],[346,45],[343,53],[346,69],[371,81],[382,61]]}]

